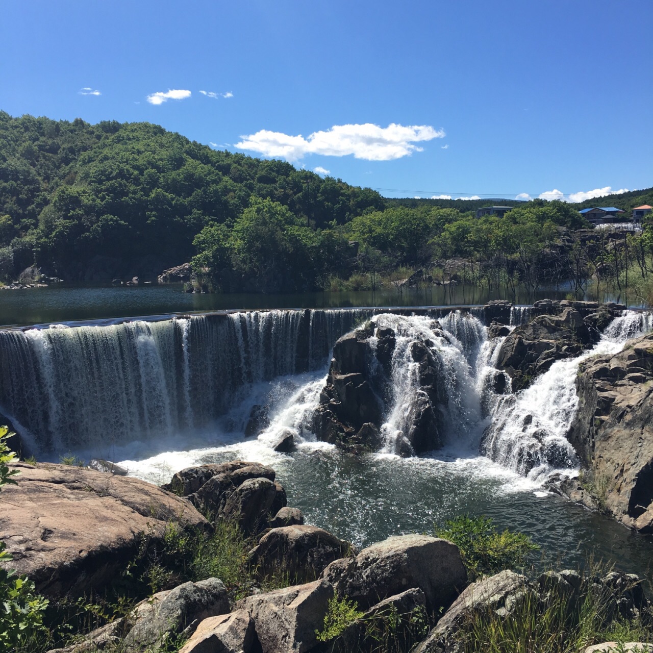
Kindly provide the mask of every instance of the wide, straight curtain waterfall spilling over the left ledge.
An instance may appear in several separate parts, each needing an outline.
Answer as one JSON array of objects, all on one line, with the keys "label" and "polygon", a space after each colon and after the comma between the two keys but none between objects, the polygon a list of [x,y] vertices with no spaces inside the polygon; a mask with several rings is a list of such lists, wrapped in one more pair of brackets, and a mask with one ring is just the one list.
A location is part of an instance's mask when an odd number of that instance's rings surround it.
[{"label": "wide, straight curtain waterfall spilling over the left ledge", "polygon": [[250,311],[0,331],[0,413],[39,454],[203,428],[244,386],[323,367],[370,315]]}]

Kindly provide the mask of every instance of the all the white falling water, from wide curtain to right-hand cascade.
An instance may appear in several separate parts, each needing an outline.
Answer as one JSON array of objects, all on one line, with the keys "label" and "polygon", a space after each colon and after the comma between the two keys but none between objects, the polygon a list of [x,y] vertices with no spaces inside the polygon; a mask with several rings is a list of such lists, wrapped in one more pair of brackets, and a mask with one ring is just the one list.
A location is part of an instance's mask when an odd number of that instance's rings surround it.
[{"label": "all the white falling water, from wide curtain to right-hand cascade", "polygon": [[[528,307],[517,308],[511,321],[528,319]],[[263,443],[283,429],[309,441],[332,345],[372,317],[396,334],[381,428],[385,453],[400,449],[419,409],[419,364],[411,354],[419,342],[438,368],[443,441],[473,454],[485,430],[483,453],[537,480],[577,464],[565,436],[577,409],[582,358],[618,351],[627,338],[653,328],[651,313],[624,311],[594,349],[556,362],[530,388],[504,394],[509,381],[496,369],[503,338],[488,338],[482,310],[438,310],[439,323],[430,317],[434,311],[374,312],[251,311],[3,331],[0,411],[37,454],[153,441],[219,418],[242,434],[255,404],[268,409]]]}]

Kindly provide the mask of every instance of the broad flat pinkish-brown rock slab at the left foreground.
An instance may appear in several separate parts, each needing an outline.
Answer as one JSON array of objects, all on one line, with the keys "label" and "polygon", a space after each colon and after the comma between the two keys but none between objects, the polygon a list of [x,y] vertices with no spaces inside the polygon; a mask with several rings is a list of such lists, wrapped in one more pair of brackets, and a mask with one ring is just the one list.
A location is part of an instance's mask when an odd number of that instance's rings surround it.
[{"label": "broad flat pinkish-brown rock slab at the left foreground", "polygon": [[0,492],[0,540],[42,594],[100,590],[166,526],[210,528],[187,501],[139,479],[67,465],[25,463]]}]

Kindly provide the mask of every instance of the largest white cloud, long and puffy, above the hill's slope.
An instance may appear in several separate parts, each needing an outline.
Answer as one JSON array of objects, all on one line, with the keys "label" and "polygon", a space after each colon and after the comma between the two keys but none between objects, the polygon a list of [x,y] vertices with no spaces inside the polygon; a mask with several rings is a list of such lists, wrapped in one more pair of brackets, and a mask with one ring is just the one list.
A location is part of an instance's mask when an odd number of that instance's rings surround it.
[{"label": "largest white cloud, long and puffy, above the hill's slope", "polygon": [[241,136],[236,143],[240,150],[259,152],[267,157],[279,157],[297,161],[307,154],[343,157],[353,154],[366,161],[392,161],[401,159],[422,148],[415,142],[443,138],[443,130],[429,125],[396,125],[379,127],[372,123],[364,125],[334,125],[327,131],[315,131],[308,138],[291,136],[278,131],[261,129],[255,134]]}]

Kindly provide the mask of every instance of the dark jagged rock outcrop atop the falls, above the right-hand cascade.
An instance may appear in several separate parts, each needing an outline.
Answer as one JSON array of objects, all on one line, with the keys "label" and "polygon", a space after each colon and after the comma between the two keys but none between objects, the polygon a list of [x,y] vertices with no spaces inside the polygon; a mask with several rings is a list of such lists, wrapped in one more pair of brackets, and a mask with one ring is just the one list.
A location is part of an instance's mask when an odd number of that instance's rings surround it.
[{"label": "dark jagged rock outcrop atop the falls, above the right-hand cascade", "polygon": [[501,345],[497,367],[510,375],[513,390],[521,390],[556,360],[578,356],[597,339],[581,313],[565,308],[560,316],[540,315],[515,328]]}]

